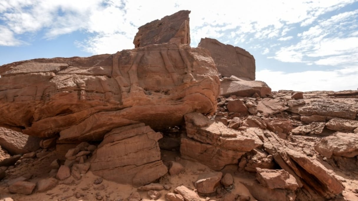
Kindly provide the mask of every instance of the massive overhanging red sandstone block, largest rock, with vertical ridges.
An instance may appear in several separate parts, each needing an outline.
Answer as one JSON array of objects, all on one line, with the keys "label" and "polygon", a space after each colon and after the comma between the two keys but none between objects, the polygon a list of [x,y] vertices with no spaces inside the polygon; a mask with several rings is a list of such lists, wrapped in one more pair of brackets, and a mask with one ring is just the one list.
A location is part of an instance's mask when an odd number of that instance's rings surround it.
[{"label": "massive overhanging red sandstone block, largest rock, with vertical ridges", "polygon": [[174,43],[15,62],[0,75],[0,126],[39,137],[59,133],[62,141],[101,140],[139,122],[179,125],[186,113],[214,112],[219,92],[208,50]]}]

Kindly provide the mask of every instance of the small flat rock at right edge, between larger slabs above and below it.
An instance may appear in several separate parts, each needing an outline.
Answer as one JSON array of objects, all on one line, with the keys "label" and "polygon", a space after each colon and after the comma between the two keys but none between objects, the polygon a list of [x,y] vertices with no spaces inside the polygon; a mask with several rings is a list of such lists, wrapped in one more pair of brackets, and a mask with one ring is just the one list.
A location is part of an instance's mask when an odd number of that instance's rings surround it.
[{"label": "small flat rock at right edge, between larger slabs above and below it", "polygon": [[358,121],[350,119],[333,118],[326,123],[326,127],[333,131],[353,133],[358,128]]}]

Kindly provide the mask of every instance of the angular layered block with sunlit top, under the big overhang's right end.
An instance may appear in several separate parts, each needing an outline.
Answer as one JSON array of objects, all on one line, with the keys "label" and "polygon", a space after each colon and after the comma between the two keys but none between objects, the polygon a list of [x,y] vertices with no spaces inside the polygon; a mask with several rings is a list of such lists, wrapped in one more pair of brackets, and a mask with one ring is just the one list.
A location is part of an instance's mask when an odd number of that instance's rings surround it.
[{"label": "angular layered block with sunlit top, under the big overhang's right end", "polygon": [[201,162],[213,170],[236,164],[248,151],[262,145],[254,131],[235,131],[200,113],[184,116],[187,137],[182,137],[182,157]]}]

